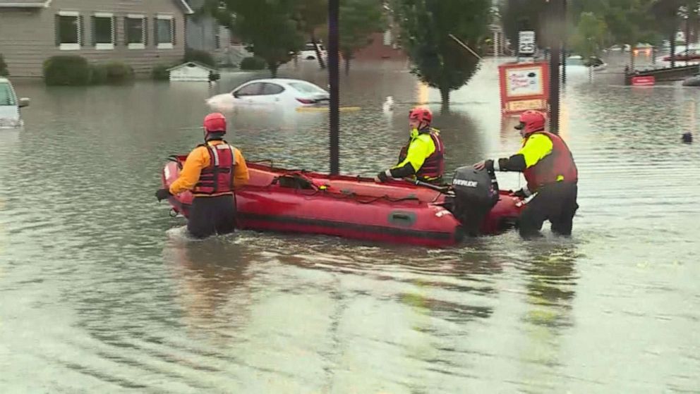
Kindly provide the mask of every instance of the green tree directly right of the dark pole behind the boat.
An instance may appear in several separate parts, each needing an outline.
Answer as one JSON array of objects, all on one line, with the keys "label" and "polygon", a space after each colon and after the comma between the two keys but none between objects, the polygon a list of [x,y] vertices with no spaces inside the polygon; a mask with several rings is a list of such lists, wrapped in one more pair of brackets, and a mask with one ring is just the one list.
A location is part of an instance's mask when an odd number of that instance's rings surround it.
[{"label": "green tree directly right of the dark pole behind the boat", "polygon": [[340,0],[339,49],[345,59],[345,73],[356,51],[372,42],[370,34],[385,28],[384,11],[377,0]]}]

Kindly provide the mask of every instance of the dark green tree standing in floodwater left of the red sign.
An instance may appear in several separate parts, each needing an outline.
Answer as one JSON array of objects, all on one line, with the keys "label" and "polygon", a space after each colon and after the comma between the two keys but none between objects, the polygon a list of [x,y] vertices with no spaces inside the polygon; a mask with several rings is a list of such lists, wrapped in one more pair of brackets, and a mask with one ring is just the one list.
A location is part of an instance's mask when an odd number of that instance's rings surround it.
[{"label": "dark green tree standing in floodwater left of the red sign", "polygon": [[469,82],[479,59],[449,37],[471,49],[488,34],[491,0],[402,0],[399,19],[402,37],[414,73],[440,90],[443,111],[449,110],[449,92]]}]

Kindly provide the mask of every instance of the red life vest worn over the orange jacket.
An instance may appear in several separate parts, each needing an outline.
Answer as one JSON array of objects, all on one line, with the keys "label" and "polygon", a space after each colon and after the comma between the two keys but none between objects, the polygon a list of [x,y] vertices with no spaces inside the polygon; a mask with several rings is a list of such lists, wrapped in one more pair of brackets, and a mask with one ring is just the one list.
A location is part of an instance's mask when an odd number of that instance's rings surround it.
[{"label": "red life vest worn over the orange jacket", "polygon": [[234,147],[227,142],[211,146],[198,145],[209,151],[209,166],[202,169],[199,181],[193,190],[195,195],[226,195],[234,191]]}]

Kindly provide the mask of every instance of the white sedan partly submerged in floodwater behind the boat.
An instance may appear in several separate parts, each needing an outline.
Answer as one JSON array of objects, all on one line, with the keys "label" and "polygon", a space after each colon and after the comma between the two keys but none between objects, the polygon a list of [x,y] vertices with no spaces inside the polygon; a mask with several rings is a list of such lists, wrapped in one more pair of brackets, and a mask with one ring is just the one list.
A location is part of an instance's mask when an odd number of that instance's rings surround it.
[{"label": "white sedan partly submerged in floodwater behind the boat", "polygon": [[207,104],[217,109],[239,106],[322,106],[328,104],[330,94],[305,80],[265,79],[252,80],[236,87],[230,93],[217,94]]}]

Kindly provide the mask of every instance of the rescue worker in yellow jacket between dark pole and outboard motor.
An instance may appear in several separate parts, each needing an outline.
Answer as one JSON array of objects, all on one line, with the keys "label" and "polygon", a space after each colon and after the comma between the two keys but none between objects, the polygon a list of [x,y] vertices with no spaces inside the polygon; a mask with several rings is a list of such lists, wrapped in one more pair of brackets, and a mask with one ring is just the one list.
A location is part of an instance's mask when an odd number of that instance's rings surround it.
[{"label": "rescue worker in yellow jacket between dark pole and outboard motor", "polygon": [[396,166],[380,172],[376,182],[389,178],[416,178],[423,182],[439,185],[445,171],[445,146],[440,139],[440,131],[431,128],[433,113],[430,109],[416,107],[409,112],[409,142],[399,153]]}]

